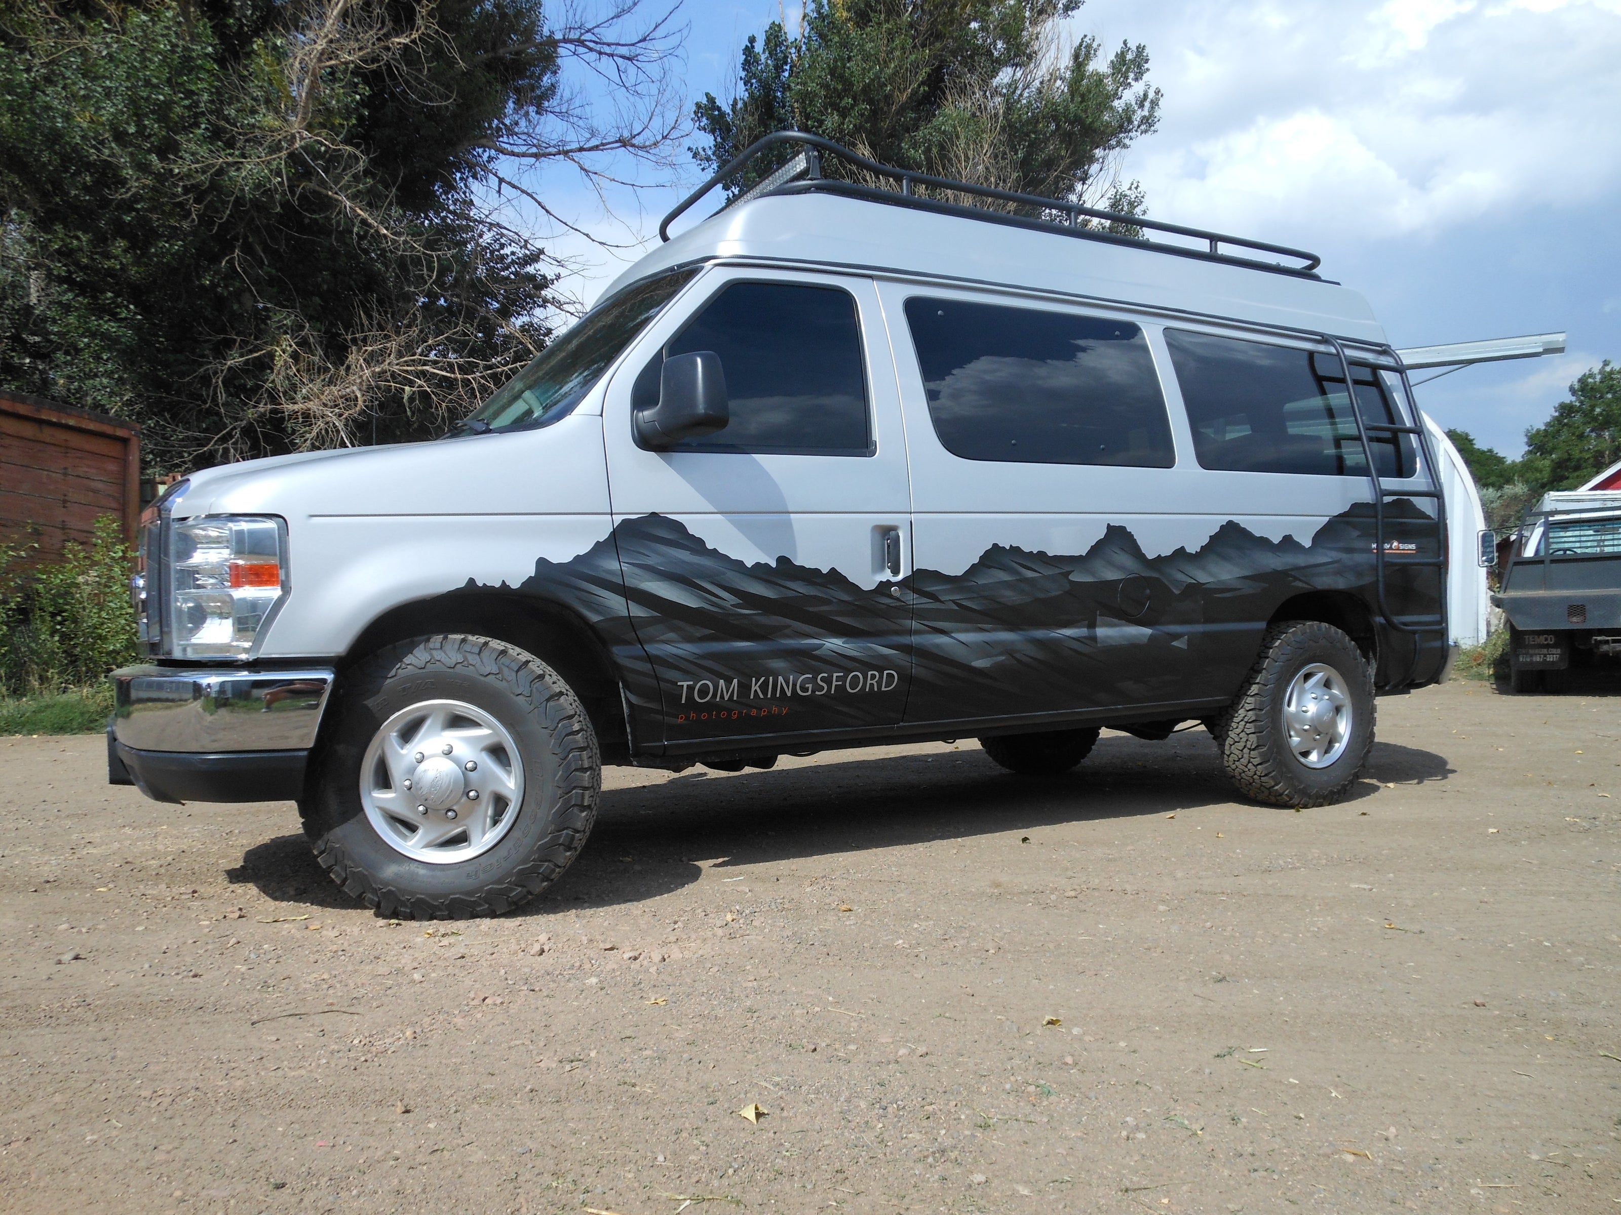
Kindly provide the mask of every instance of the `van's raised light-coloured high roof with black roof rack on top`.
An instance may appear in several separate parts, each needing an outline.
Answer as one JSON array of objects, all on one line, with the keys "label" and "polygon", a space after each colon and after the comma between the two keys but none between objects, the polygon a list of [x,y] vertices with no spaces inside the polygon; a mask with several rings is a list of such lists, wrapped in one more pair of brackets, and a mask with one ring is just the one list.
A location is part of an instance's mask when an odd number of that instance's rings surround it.
[{"label": "van's raised light-coloured high roof with black roof rack on top", "polygon": [[[1143,309],[1159,318],[1240,321],[1294,335],[1331,334],[1358,345],[1386,345],[1384,329],[1367,300],[1319,279],[1313,272],[1318,258],[1303,249],[927,178],[794,131],[767,136],[726,165],[665,217],[661,233],[772,143],[832,151],[869,175],[898,178],[908,193],[820,177],[817,157],[801,154],[733,204],[668,238],[619,275],[608,295],[674,266],[742,261],[956,280]],[[992,204],[1018,201],[1024,214],[947,202],[916,193],[921,188],[952,190]],[[1088,219],[1130,224],[1143,237],[1083,227]],[[1206,248],[1167,241],[1157,237],[1161,232],[1203,241]],[[1222,245],[1242,253],[1225,253]]]}]

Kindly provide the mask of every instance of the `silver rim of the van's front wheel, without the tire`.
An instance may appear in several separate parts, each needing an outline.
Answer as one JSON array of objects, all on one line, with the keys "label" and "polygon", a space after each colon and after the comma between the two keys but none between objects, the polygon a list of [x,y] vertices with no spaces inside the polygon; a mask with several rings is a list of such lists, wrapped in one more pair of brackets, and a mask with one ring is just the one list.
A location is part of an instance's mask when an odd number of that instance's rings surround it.
[{"label": "silver rim of the van's front wheel, without the tire", "polygon": [[524,805],[506,726],[462,700],[425,700],[383,723],[360,765],[360,802],[387,844],[454,865],[493,849]]}]

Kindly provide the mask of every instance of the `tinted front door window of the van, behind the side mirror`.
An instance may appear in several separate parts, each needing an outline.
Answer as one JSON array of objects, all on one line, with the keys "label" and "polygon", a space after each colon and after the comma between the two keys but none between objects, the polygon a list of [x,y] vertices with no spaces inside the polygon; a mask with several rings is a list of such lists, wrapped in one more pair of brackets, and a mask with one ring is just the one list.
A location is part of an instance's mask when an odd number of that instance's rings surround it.
[{"label": "tinted front door window of the van, behind the side mirror", "polygon": [[716,295],[637,376],[634,408],[658,400],[663,361],[713,350],[726,373],[726,429],[678,452],[870,455],[856,301],[836,287],[739,282]]}]

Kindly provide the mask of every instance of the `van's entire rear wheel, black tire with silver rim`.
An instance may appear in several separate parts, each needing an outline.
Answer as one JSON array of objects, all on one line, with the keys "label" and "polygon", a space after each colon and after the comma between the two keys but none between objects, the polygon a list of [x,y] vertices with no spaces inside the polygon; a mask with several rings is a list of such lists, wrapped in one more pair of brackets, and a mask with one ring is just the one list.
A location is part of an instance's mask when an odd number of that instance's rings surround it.
[{"label": "van's entire rear wheel, black tire with silver rim", "polygon": [[1337,802],[1373,748],[1373,667],[1332,625],[1276,624],[1209,729],[1247,797],[1295,808]]}]

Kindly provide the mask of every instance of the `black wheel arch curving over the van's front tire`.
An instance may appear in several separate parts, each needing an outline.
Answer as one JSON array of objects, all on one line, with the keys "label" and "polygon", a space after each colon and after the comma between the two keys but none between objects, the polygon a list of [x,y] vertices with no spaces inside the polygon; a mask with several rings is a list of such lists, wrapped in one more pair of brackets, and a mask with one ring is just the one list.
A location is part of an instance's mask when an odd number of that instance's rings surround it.
[{"label": "black wheel arch curving over the van's front tire", "polygon": [[546,663],[574,688],[597,731],[606,763],[629,757],[619,672],[608,645],[572,609],[517,591],[468,588],[417,599],[383,612],[344,654],[344,669],[378,650],[436,633],[472,633],[506,642]]}]

